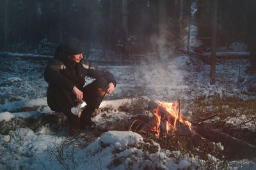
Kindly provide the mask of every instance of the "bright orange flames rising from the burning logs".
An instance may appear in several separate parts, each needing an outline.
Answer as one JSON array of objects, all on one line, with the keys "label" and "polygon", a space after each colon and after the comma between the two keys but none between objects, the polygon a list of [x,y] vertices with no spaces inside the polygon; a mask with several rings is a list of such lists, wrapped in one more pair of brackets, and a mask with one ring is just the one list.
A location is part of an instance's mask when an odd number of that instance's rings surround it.
[{"label": "bright orange flames rising from the burning logs", "polygon": [[157,132],[157,136],[159,138],[159,134],[160,134],[160,125],[161,125],[161,119],[166,119],[164,116],[161,117],[161,113],[159,111],[159,107],[164,108],[164,110],[166,111],[166,113],[168,113],[169,115],[167,116],[167,120],[166,121],[166,132],[168,134],[168,132],[170,131],[170,129],[172,129],[172,134],[174,134],[174,132],[177,130],[178,128],[178,121],[180,120],[180,122],[184,125],[187,125],[191,130],[191,122],[189,122],[188,120],[184,120],[182,113],[180,113],[179,116],[179,103],[178,101],[174,101],[172,103],[167,103],[164,101],[157,101],[157,109],[155,109],[153,111],[154,115],[156,116],[156,126],[154,127],[154,131]]}]

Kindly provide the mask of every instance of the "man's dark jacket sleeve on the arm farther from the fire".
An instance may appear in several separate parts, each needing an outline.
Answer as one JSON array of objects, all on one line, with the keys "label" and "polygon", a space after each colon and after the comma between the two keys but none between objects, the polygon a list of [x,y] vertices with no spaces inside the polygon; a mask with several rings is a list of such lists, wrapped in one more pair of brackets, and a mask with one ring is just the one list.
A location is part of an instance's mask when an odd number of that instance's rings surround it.
[{"label": "man's dark jacket sleeve on the arm farther from the fire", "polygon": [[44,79],[47,83],[56,87],[72,90],[75,84],[60,73],[62,69],[65,69],[63,62],[59,60],[51,60],[45,67]]}]

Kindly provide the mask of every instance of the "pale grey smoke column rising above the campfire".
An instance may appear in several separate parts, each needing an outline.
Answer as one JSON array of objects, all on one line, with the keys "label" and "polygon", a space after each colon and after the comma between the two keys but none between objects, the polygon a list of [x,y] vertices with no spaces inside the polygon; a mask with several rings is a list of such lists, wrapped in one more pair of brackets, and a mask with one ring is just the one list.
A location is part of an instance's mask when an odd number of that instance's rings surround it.
[{"label": "pale grey smoke column rising above the campfire", "polygon": [[170,24],[162,24],[159,26],[159,33],[150,37],[155,53],[149,57],[153,62],[147,67],[140,67],[143,80],[138,84],[145,87],[154,99],[170,100],[180,94],[183,75],[177,63],[173,62],[177,40],[175,37],[177,36],[170,30]]}]

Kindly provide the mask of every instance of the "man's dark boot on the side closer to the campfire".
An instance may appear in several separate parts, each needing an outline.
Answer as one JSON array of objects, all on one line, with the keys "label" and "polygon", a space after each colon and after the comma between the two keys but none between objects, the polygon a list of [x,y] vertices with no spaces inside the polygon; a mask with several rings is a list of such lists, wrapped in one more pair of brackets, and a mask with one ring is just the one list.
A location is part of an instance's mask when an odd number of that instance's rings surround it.
[{"label": "man's dark boot on the side closer to the campfire", "polygon": [[95,108],[90,106],[86,106],[86,108],[82,111],[80,117],[80,128],[84,129],[86,127],[96,126],[94,122],[92,122],[92,113],[95,111]]}]

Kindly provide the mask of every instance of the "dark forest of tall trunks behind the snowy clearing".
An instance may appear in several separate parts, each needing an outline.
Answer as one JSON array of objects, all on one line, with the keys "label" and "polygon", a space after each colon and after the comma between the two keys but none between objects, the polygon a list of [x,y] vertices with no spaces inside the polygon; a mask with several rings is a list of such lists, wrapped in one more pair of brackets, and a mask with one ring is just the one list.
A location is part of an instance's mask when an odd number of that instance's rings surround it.
[{"label": "dark forest of tall trunks behind the snowy clearing", "polygon": [[102,57],[108,50],[124,56],[131,50],[157,52],[156,39],[163,37],[164,48],[186,50],[183,38],[189,36],[189,25],[193,24],[198,27],[203,46],[211,47],[216,29],[216,46],[228,49],[230,43],[242,41],[253,57],[255,0],[198,0],[193,20],[191,3],[192,0],[3,0],[0,50],[26,53],[42,51],[46,46],[51,53],[68,34],[83,41],[86,56],[93,49],[100,49]]}]

